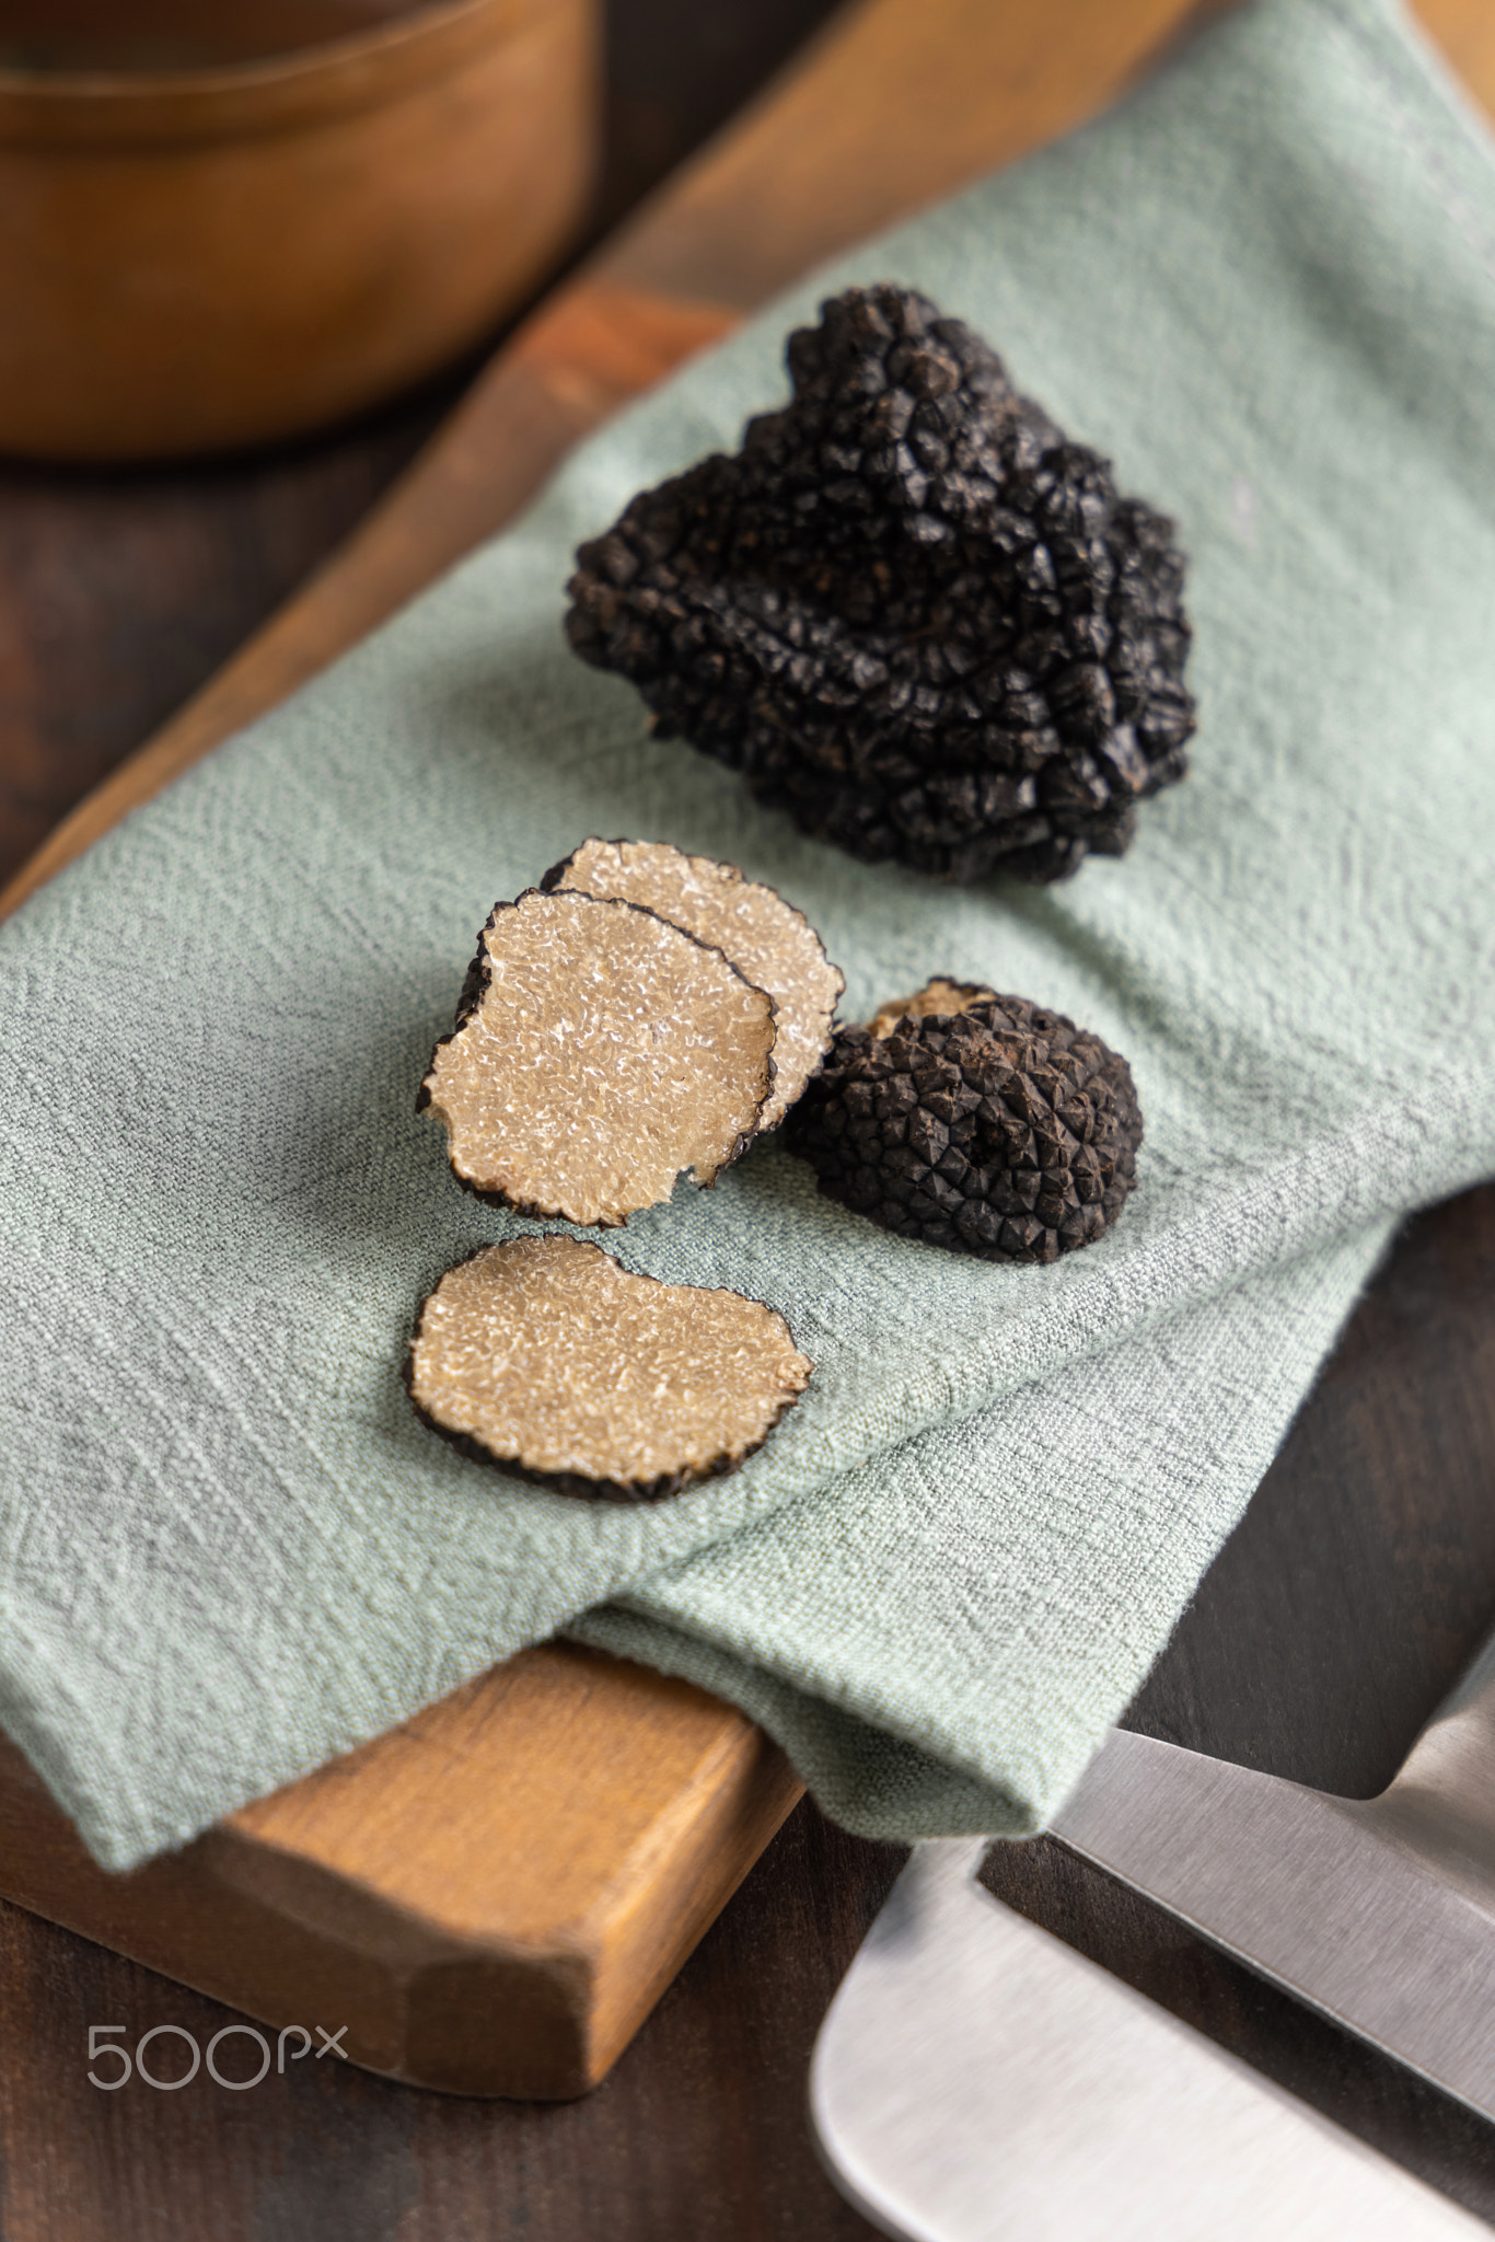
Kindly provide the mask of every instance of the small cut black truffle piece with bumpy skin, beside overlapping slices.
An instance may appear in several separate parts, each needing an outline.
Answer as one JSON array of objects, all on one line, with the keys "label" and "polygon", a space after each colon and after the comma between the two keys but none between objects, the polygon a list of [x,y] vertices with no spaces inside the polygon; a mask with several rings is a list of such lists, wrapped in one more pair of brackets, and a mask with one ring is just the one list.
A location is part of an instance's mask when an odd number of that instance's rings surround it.
[{"label": "small cut black truffle piece with bumpy skin, beside overlapping slices", "polygon": [[948,980],[843,1029],[787,1128],[832,1199],[899,1238],[1013,1262],[1101,1238],[1136,1186],[1141,1137],[1132,1069],[1098,1036]]}]

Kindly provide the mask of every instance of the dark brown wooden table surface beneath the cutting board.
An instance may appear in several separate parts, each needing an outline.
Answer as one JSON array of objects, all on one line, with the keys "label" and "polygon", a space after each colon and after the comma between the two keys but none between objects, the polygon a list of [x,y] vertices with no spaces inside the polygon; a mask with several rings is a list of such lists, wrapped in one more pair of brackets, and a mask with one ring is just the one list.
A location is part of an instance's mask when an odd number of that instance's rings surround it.
[{"label": "dark brown wooden table surface beneath the cutting board", "polygon": [[[1116,0],[1121,7],[1123,0]],[[616,0],[598,211],[650,179],[825,0]],[[1459,54],[1482,0],[1448,0]],[[1473,36],[1473,29],[1470,29]],[[170,473],[0,469],[0,877],[359,518],[464,370],[294,453]],[[1134,1722],[1376,1791],[1495,1619],[1495,1186],[1408,1224]],[[800,1807],[605,2085],[451,2101],[336,2063],[238,2096],[87,2083],[229,2011],[0,1906],[0,2242],[809,2242],[867,2235],[809,2148],[816,2025],[899,1868]],[[1495,2132],[1047,1843],[1004,1897],[1495,2220]],[[173,2058],[161,2054],[161,2074]]]}]

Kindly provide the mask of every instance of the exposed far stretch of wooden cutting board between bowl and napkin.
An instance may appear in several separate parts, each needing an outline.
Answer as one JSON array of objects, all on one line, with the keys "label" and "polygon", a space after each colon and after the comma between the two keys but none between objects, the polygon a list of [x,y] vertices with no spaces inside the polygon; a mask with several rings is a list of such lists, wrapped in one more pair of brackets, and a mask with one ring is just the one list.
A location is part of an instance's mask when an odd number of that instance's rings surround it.
[{"label": "exposed far stretch of wooden cutting board between bowl and napkin", "polygon": [[572,444],[744,309],[1098,114],[1217,7],[849,0],[762,101],[547,294],[356,534],[54,827],[0,892],[0,915],[493,536]]}]

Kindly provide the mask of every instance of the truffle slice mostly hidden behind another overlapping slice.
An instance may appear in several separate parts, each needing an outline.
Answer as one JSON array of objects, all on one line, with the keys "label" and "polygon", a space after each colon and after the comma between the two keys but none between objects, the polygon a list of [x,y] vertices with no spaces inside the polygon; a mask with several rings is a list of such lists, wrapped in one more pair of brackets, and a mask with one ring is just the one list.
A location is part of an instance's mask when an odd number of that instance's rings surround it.
[{"label": "truffle slice mostly hidden behind another overlapping slice", "polygon": [[643,904],[711,942],[776,1004],[773,1092],[760,1130],[778,1128],[832,1040],[845,978],[802,910],[776,888],[744,879],[735,863],[686,856],[668,841],[583,841],[540,886]]}]

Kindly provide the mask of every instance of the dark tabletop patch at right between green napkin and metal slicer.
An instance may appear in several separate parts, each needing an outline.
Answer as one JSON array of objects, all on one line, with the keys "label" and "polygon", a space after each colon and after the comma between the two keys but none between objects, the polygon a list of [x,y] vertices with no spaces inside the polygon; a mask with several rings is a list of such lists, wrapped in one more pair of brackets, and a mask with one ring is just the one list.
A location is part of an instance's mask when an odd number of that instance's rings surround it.
[{"label": "dark tabletop patch at right between green napkin and metal slicer", "polygon": [[1412,1217],[1132,1722],[1372,1798],[1495,1623],[1495,1184]]}]

